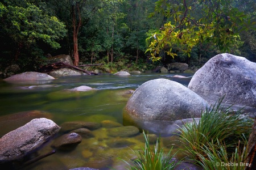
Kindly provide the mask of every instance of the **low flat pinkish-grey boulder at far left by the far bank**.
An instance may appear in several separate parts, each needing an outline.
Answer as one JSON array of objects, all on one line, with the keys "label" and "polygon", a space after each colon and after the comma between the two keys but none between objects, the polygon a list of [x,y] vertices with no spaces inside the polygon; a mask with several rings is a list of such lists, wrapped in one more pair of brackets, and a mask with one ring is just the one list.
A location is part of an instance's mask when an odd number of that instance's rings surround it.
[{"label": "low flat pinkish-grey boulder at far left by the far bank", "polygon": [[53,78],[52,76],[49,76],[48,74],[30,71],[30,72],[16,74],[16,75],[10,76],[9,78],[3,79],[3,80],[6,80],[6,81],[22,81],[22,80],[37,81],[37,80],[52,80],[52,79],[55,79],[55,78]]}]

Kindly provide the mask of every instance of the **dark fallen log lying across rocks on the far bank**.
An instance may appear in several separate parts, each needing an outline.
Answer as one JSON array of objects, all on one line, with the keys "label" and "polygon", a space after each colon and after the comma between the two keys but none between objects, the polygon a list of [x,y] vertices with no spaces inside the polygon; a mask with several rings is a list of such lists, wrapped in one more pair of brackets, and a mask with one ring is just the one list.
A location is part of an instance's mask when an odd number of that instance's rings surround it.
[{"label": "dark fallen log lying across rocks on the far bank", "polygon": [[79,71],[82,71],[86,74],[89,74],[89,75],[98,75],[97,73],[92,73],[90,71],[86,71],[86,70],[82,70],[80,69],[79,67],[76,67],[76,66],[71,66],[67,63],[64,63],[64,62],[57,62],[57,63],[52,63],[51,65],[47,65],[47,66],[43,66],[40,68],[40,72],[41,73],[49,73],[53,70],[58,70],[58,69],[63,69],[63,68],[71,68],[71,69],[75,69],[75,70],[79,70]]}]

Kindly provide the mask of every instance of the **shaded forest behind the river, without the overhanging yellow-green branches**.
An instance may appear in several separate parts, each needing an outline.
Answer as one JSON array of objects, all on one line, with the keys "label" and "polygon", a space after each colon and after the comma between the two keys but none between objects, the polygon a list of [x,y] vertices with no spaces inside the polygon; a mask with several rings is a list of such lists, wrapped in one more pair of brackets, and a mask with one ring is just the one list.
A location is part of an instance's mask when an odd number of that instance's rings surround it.
[{"label": "shaded forest behind the river, without the overhanging yellow-green branches", "polygon": [[[155,11],[155,2],[182,8],[185,1],[1,0],[0,69],[18,64],[22,71],[38,70],[48,56],[58,54],[69,54],[75,65],[105,63],[113,70],[151,70],[171,62],[200,67],[221,52],[216,45],[202,41],[192,48],[190,57],[172,46],[177,56],[160,54],[162,59],[153,63],[150,53],[145,53],[150,43],[146,39],[173,19]],[[221,4],[222,0],[209,2]],[[247,23],[256,21],[255,0],[229,2],[228,8],[243,12]],[[200,3],[204,2],[187,3],[195,7],[193,14],[197,18],[204,14],[200,11]],[[228,52],[255,62],[256,26],[250,26],[238,30]]]}]

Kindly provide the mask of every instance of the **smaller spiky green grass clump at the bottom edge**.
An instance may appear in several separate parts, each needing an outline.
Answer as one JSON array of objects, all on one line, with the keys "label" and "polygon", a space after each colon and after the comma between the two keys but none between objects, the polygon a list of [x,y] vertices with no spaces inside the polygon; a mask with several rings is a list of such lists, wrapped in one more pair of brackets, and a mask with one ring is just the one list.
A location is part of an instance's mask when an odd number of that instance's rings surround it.
[{"label": "smaller spiky green grass clump at the bottom edge", "polygon": [[173,161],[174,155],[171,155],[172,148],[168,152],[168,154],[164,155],[163,147],[160,147],[160,138],[157,139],[154,148],[151,149],[150,143],[148,141],[148,137],[143,131],[144,139],[145,139],[145,147],[142,148],[142,151],[134,151],[137,155],[137,159],[133,160],[131,163],[126,162],[129,165],[131,170],[172,170],[180,164],[180,162]]}]

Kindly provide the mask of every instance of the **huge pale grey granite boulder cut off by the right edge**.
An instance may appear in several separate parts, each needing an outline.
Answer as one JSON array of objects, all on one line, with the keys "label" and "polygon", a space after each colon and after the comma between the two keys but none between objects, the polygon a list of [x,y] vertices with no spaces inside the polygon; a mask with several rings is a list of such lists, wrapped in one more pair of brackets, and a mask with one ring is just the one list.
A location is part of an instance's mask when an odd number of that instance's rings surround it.
[{"label": "huge pale grey granite boulder cut off by the right edge", "polygon": [[209,103],[225,95],[229,104],[256,108],[256,63],[232,54],[218,54],[199,69],[188,88]]}]

